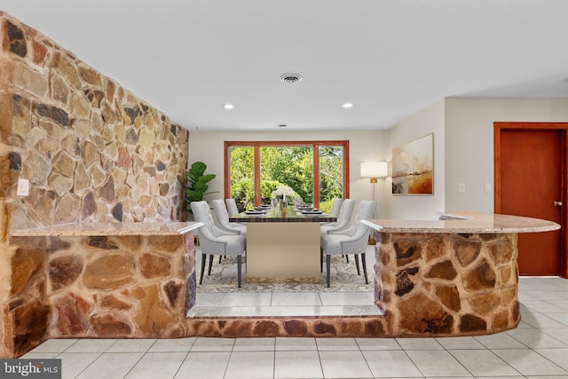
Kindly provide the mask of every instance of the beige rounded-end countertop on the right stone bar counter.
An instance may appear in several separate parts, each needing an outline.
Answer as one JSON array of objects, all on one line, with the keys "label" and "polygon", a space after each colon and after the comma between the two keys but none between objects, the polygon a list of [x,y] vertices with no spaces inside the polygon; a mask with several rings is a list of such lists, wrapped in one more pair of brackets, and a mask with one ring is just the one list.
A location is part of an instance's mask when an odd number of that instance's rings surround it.
[{"label": "beige rounded-end countertop on the right stone bar counter", "polygon": [[540,233],[560,229],[560,225],[540,218],[509,215],[448,212],[438,220],[364,220],[385,233]]}]

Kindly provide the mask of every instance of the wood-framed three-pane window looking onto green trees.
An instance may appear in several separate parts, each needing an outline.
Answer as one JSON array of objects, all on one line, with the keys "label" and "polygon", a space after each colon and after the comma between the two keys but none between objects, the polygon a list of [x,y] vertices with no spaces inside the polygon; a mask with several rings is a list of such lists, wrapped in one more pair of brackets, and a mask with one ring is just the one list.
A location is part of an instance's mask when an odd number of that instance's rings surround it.
[{"label": "wood-framed three-pane window looking onto green trees", "polygon": [[272,200],[289,186],[322,210],[349,197],[349,141],[225,142],[225,197],[240,210]]}]

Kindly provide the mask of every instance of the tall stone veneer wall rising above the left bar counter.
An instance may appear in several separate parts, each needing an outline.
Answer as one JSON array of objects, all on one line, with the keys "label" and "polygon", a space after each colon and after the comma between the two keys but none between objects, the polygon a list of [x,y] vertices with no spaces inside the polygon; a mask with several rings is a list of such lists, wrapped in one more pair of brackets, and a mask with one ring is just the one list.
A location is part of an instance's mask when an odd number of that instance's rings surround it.
[{"label": "tall stone veneer wall rising above the left bar counter", "polygon": [[[0,340],[5,342],[10,338],[4,333],[6,307],[16,304],[6,299],[19,274],[12,264],[29,253],[11,244],[8,234],[69,222],[183,218],[188,132],[4,12],[0,43]],[[16,196],[18,178],[29,179],[27,197]],[[40,289],[20,288],[20,302],[45,304]],[[7,354],[5,345],[0,343],[0,356]]]}]

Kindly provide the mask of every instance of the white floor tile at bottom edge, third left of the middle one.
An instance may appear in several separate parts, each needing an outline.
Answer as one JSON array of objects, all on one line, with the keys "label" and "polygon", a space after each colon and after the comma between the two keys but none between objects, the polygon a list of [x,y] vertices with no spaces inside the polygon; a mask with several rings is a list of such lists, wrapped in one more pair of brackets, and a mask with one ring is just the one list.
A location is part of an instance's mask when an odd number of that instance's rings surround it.
[{"label": "white floor tile at bottom edge, third left of the middle one", "polygon": [[184,362],[186,352],[148,352],[125,379],[171,378]]}]

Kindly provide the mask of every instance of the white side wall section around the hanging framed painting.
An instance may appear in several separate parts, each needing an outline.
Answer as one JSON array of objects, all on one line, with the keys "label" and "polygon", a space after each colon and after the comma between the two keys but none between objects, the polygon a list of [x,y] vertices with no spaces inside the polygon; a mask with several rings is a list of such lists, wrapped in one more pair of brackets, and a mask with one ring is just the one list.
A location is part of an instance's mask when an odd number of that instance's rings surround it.
[{"label": "white side wall section around the hanging framed painting", "polygon": [[392,128],[390,148],[404,145],[430,133],[434,133],[434,194],[393,196],[389,188],[390,218],[434,219],[438,217],[437,212],[446,210],[444,100],[436,102]]}]

